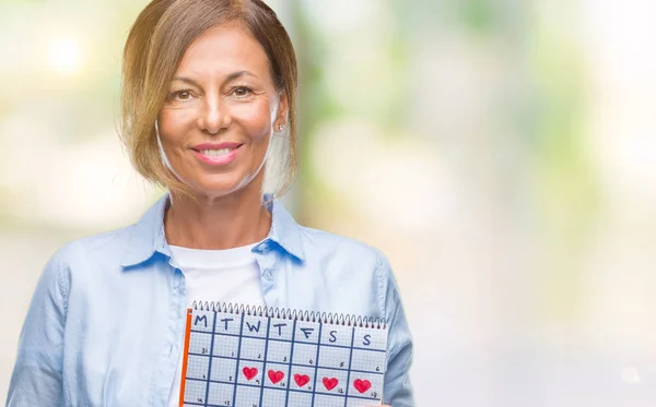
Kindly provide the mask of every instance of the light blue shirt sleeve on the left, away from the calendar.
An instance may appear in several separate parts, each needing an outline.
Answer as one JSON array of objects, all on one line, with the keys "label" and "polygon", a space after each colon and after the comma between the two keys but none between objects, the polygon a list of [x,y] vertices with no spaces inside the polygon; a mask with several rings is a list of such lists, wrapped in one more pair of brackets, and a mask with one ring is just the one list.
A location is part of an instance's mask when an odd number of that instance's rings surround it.
[{"label": "light blue shirt sleeve on the left, away from the calendar", "polygon": [[43,271],[21,330],[8,407],[62,405],[63,328],[68,283],[61,251]]}]

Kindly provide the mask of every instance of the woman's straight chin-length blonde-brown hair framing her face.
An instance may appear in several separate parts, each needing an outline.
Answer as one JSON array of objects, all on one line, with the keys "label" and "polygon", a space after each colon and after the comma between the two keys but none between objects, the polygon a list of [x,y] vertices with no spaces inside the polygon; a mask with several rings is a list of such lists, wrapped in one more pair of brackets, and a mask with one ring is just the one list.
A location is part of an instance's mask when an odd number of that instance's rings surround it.
[{"label": "woman's straight chin-length blonde-brown hair framing her face", "polygon": [[261,0],[151,1],[132,25],[124,49],[120,137],[133,167],[147,180],[174,193],[190,193],[162,161],[154,123],[186,49],[207,29],[229,23],[242,24],[262,46],[273,85],[288,98],[285,133],[271,137],[273,154],[265,175],[265,183],[274,185],[269,192],[280,196],[296,173],[298,74],[289,34]]}]

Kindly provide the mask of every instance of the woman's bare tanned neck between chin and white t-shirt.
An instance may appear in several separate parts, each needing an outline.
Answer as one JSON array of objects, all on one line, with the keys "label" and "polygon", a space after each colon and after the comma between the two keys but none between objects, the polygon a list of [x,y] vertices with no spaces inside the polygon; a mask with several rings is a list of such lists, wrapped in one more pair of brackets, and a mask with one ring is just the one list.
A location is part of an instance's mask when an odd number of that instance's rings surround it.
[{"label": "woman's bare tanned neck between chin and white t-shirt", "polygon": [[271,214],[257,188],[220,197],[172,194],[164,216],[168,244],[192,249],[224,250],[257,243],[270,228]]}]

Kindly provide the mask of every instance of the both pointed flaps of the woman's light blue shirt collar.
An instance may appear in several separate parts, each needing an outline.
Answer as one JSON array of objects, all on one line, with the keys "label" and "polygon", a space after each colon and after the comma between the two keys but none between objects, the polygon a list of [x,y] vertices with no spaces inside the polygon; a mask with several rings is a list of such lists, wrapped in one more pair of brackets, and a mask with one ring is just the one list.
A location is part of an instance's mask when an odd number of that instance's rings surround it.
[{"label": "both pointed flaps of the woman's light blue shirt collar", "polygon": [[[267,197],[265,196],[265,200]],[[171,256],[171,249],[164,234],[164,212],[168,205],[168,194],[152,205],[141,219],[129,228],[129,244],[121,266],[131,267],[150,260],[156,252]],[[300,225],[278,200],[266,204],[271,212],[271,229],[266,240],[272,240],[284,251],[305,260]]]}]

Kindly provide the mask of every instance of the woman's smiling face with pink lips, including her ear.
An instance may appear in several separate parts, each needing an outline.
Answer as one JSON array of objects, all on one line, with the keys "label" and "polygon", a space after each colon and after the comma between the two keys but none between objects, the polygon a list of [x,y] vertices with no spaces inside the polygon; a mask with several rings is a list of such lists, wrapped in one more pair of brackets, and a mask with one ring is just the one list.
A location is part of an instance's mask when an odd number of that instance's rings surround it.
[{"label": "woman's smiling face with pink lips, including her ear", "polygon": [[261,45],[241,25],[221,25],[185,52],[159,130],[176,176],[211,199],[261,188],[269,139],[285,116]]}]

